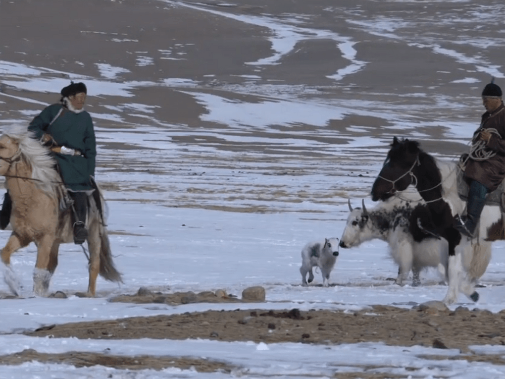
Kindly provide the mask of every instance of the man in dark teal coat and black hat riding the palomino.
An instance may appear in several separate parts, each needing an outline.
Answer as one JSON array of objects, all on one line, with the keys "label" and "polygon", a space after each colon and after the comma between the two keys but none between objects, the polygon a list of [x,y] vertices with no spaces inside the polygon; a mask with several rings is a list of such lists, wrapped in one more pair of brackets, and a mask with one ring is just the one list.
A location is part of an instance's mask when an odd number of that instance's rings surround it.
[{"label": "man in dark teal coat and black hat riding the palomino", "polygon": [[[73,203],[73,233],[77,245],[84,243],[88,236],[87,196],[96,189],[96,141],[91,116],[83,109],[86,94],[84,83],[71,82],[61,90],[60,103],[46,107],[28,126],[57,161],[57,169]],[[2,229],[9,223],[10,207],[9,193],[6,193],[0,214]]]}]

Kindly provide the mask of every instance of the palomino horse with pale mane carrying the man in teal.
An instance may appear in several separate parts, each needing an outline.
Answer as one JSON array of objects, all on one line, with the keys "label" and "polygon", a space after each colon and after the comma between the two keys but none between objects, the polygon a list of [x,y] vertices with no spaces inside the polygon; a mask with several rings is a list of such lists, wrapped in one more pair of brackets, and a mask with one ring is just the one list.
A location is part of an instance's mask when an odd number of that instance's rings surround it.
[{"label": "palomino horse with pale mane carrying the man in teal", "polygon": [[[73,243],[71,210],[60,211],[62,181],[49,151],[32,138],[26,127],[13,127],[0,137],[0,175],[12,198],[12,234],[0,257],[6,265],[5,281],[19,295],[19,285],[10,267],[11,255],[34,242],[37,261],[33,291],[47,296],[49,281],[58,265],[60,244]],[[89,248],[89,285],[87,296],[94,297],[98,273],[105,279],[122,282],[116,270],[107,229],[93,200],[89,199],[86,227]],[[105,201],[100,194],[104,209]]]}]

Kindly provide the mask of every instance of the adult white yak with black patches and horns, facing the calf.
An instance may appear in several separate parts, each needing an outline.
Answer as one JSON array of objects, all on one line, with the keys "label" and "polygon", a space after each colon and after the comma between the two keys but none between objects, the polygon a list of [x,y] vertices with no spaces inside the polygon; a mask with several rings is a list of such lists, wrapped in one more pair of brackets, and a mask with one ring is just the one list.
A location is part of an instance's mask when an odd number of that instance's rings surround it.
[{"label": "adult white yak with black patches and horns, facing the calf", "polygon": [[[403,197],[416,197],[415,194],[403,194]],[[410,200],[410,199],[407,199]],[[448,264],[448,244],[444,239],[428,238],[422,242],[414,241],[410,231],[410,215],[413,207],[410,201],[392,198],[381,202],[372,210],[352,208],[350,201],[347,224],[340,239],[340,247],[351,248],[373,239],[386,241],[389,253],[398,265],[396,283],[402,286],[412,270],[412,286],[421,285],[419,272],[426,267],[437,267],[446,278]]]}]

